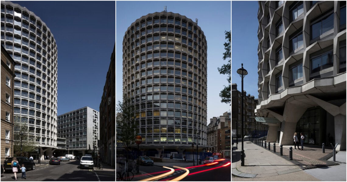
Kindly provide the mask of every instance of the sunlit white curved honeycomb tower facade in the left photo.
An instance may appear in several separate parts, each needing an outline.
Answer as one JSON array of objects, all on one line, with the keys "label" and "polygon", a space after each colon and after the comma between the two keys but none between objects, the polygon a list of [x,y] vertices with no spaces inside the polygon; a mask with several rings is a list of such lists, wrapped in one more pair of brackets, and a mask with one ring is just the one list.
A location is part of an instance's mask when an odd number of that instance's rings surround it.
[{"label": "sunlit white curved honeycomb tower facade in the left photo", "polygon": [[57,146],[57,45],[46,24],[18,4],[1,1],[1,44],[15,65],[14,115],[41,147]]}]

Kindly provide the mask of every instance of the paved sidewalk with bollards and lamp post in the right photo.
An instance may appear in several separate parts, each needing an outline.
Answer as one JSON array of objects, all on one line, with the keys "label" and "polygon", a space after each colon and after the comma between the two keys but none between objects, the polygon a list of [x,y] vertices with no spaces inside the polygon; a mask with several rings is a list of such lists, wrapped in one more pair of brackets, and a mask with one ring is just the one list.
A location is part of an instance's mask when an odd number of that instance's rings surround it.
[{"label": "paved sidewalk with bollards and lamp post in the right photo", "polygon": [[[236,144],[234,144],[236,146]],[[293,150],[293,160],[289,160],[289,147],[283,146],[283,156],[280,156],[280,147],[276,146],[273,152],[273,143],[268,150],[268,144],[261,147],[251,141],[244,141],[245,166],[241,166],[241,142],[238,150],[232,152],[232,175],[239,177],[265,177],[293,173],[310,168],[338,165],[327,161],[332,156],[330,149],[305,147],[304,150]],[[292,146],[294,147],[294,146]],[[235,148],[235,147],[233,147]]]}]

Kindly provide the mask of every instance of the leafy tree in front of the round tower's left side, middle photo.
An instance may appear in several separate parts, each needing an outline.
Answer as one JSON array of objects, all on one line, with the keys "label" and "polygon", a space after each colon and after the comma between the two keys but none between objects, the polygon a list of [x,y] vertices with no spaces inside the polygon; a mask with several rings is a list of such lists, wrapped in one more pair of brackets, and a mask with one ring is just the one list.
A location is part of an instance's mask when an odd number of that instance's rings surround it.
[{"label": "leafy tree in front of the round tower's left side, middle photo", "polygon": [[117,104],[117,136],[121,140],[123,147],[125,148],[127,154],[126,158],[128,161],[128,151],[130,150],[130,145],[135,143],[135,105],[132,104],[132,100],[125,95],[123,96],[124,101],[118,101]]}]

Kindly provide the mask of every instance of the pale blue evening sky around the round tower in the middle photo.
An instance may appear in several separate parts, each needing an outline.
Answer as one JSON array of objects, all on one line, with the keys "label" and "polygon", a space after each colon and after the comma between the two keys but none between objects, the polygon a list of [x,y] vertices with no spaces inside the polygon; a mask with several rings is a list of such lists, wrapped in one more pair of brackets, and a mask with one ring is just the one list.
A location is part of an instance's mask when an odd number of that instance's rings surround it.
[{"label": "pale blue evening sky around the round tower in the middle photo", "polygon": [[116,101],[122,101],[122,41],[127,28],[138,18],[161,12],[178,13],[195,21],[201,27],[207,41],[207,122],[229,112],[230,104],[221,103],[219,97],[227,75],[220,75],[218,67],[223,60],[225,31],[231,29],[230,1],[117,1],[116,2]]}]

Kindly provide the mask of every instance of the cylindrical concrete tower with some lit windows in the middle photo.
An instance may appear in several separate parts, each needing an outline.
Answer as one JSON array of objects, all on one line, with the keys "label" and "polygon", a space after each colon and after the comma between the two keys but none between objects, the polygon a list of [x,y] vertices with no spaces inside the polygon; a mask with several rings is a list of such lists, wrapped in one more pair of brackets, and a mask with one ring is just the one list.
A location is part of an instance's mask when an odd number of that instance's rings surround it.
[{"label": "cylindrical concrete tower with some lit windows in the middle photo", "polygon": [[200,133],[206,145],[206,58],[204,33],[185,16],[155,12],[127,29],[123,93],[136,105],[142,144],[191,147]]}]

